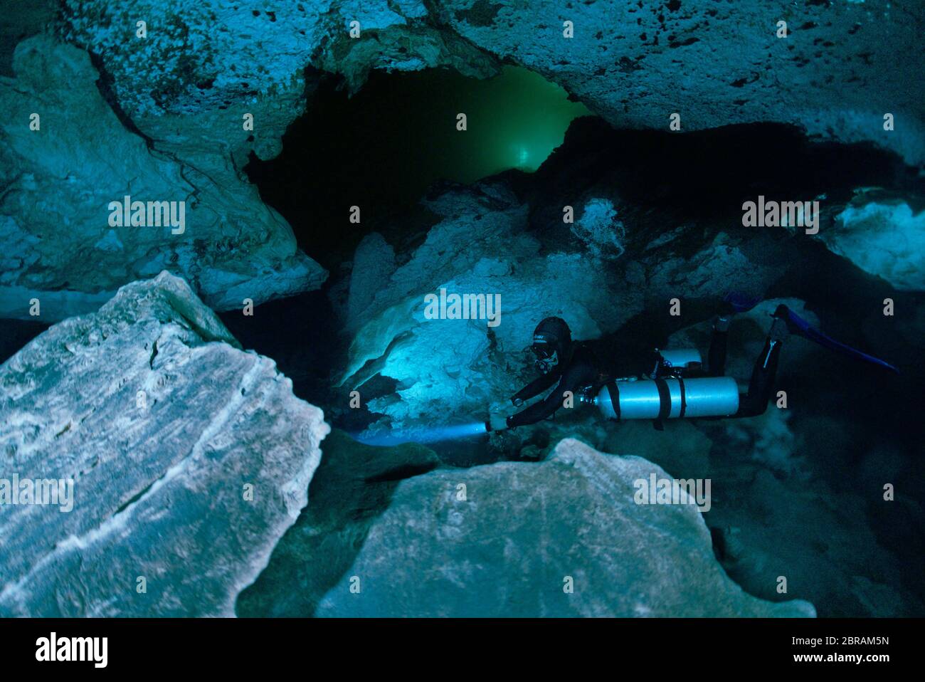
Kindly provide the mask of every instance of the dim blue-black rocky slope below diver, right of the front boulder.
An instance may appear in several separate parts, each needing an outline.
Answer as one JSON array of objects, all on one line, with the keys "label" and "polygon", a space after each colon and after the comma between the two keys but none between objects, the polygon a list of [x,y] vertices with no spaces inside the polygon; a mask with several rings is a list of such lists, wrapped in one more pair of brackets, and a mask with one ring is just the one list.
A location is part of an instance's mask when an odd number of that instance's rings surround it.
[{"label": "dim blue-black rocky slope below diver, right of the front boulder", "polygon": [[[785,351],[792,360],[791,348]],[[913,520],[920,507],[911,500],[884,503],[879,486],[870,485],[914,476],[914,467],[905,465],[900,475],[881,453],[876,473],[862,472],[845,459],[851,441],[863,438],[863,425],[806,421],[772,408],[713,426],[672,422],[662,432],[624,423],[599,448],[645,457],[672,477],[711,478],[713,506],[704,520],[723,568],[750,594],[779,599],[783,576],[788,593],[812,601],[820,616],[921,613],[914,583],[921,539]],[[856,485],[833,483],[838,468]],[[894,527],[889,541],[882,516]]]}]

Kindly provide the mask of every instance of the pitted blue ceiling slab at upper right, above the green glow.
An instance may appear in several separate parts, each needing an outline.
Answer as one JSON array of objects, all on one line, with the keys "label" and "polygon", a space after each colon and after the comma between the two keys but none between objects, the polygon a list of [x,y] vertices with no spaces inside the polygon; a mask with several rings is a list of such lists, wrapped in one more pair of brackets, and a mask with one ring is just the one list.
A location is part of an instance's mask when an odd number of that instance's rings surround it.
[{"label": "pitted blue ceiling slab at upper right, above the green glow", "polygon": [[[796,123],[925,161],[916,2],[438,3],[438,17],[494,56],[561,84],[612,124],[683,130]],[[574,25],[571,40],[562,22]],[[777,22],[789,35],[776,36]],[[871,83],[877,96],[870,97]],[[883,115],[902,125],[883,130]]]}]

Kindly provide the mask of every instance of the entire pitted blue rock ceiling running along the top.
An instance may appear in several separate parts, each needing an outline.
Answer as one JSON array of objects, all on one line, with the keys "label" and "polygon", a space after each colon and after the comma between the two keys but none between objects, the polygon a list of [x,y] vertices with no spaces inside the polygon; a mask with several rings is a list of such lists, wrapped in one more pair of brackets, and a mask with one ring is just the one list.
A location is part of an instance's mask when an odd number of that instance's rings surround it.
[{"label": "entire pitted blue rock ceiling running along the top", "polygon": [[[133,116],[298,91],[293,83],[309,64],[343,74],[355,89],[370,68],[444,65],[487,75],[505,59],[620,127],[664,130],[672,112],[684,130],[782,121],[925,160],[925,17],[914,2],[72,0],[64,16],[63,34],[103,56]],[[132,37],[142,17],[143,41]],[[349,35],[352,20],[360,38]],[[573,38],[563,37],[566,20]],[[786,38],[776,35],[780,20]],[[895,130],[883,130],[885,113],[894,114]]]}]

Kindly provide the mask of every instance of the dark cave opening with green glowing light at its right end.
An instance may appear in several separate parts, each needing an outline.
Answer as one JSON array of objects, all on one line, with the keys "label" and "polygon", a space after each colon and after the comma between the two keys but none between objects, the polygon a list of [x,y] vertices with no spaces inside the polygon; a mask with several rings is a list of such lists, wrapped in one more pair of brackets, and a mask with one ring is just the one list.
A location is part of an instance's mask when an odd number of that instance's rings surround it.
[{"label": "dark cave opening with green glowing light at its right end", "polygon": [[[439,180],[470,184],[504,170],[535,171],[573,118],[590,115],[558,85],[505,66],[479,80],[449,68],[373,71],[349,96],[322,77],[283,151],[245,167],[264,201],[286,217],[299,245],[325,267],[349,257],[364,234],[388,232]],[[460,114],[465,130],[458,130]],[[360,207],[359,225],[349,221]],[[348,229],[349,228],[349,229]]]}]

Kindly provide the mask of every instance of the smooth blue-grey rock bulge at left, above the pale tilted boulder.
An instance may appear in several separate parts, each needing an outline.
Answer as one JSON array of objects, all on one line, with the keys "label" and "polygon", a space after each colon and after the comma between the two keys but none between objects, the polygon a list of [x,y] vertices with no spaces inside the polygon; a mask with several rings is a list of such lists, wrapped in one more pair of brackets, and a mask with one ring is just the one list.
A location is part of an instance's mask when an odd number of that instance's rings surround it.
[{"label": "smooth blue-grey rock bulge at left, above the pale tilted boulder", "polygon": [[[325,270],[286,221],[241,180],[221,145],[180,161],[123,125],[90,57],[45,37],[19,44],[17,78],[0,79],[0,316],[54,321],[95,310],[121,285],[162,269],[206,304],[239,307],[320,286]],[[30,130],[31,113],[40,130]],[[240,123],[238,124],[240,129]],[[185,202],[185,231],[112,227],[110,202]]]}]

